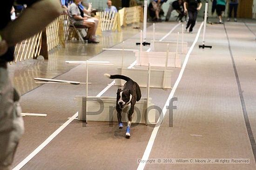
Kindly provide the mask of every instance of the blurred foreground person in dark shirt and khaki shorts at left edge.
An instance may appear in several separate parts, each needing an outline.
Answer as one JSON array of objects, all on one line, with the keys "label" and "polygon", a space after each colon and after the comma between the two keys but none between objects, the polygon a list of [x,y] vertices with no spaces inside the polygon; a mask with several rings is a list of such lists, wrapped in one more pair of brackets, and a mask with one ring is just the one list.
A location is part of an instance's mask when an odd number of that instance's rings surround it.
[{"label": "blurred foreground person in dark shirt and khaki shorts at left edge", "polygon": [[[11,21],[15,4],[27,4]],[[36,15],[35,15],[36,12]],[[13,61],[14,45],[43,30],[62,13],[60,0],[5,0],[0,6],[0,170],[9,170],[20,137],[24,132],[19,94],[8,75],[7,62]]]}]

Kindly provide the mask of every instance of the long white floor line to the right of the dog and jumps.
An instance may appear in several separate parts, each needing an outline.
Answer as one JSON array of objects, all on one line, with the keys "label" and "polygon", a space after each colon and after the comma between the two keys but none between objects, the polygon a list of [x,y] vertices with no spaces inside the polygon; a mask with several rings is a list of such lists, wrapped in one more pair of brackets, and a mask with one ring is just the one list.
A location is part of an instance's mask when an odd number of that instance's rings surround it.
[{"label": "long white floor line to the right of the dog and jumps", "polygon": [[[195,36],[195,40],[194,40],[193,44],[191,45],[191,47],[190,47],[190,49],[189,49],[189,51],[188,51],[188,53],[187,53],[187,55],[186,55],[186,57],[185,57],[185,60],[184,60],[184,63],[183,63],[183,65],[182,65],[182,69],[181,69],[181,71],[180,71],[180,74],[179,74],[179,76],[178,76],[178,78],[177,78],[177,80],[176,80],[176,82],[175,82],[175,84],[174,84],[174,86],[173,86],[173,89],[172,89],[171,93],[170,93],[169,96],[168,96],[168,99],[167,99],[167,101],[166,101],[166,103],[165,103],[163,109],[162,109],[162,113],[163,113],[163,116],[162,116],[162,117],[163,117],[163,118],[164,118],[165,113],[166,113],[166,111],[167,111],[167,108],[166,108],[166,107],[168,106],[169,101],[171,100],[171,98],[174,96],[175,91],[176,91],[176,89],[177,89],[177,87],[178,87],[178,85],[179,85],[179,83],[180,83],[180,81],[181,81],[181,79],[182,79],[182,75],[183,75],[184,70],[185,70],[185,68],[186,68],[186,65],[187,65],[187,63],[188,63],[188,61],[189,61],[190,53],[191,53],[192,50],[194,49],[194,46],[195,46],[195,44],[196,44],[196,42],[197,42],[197,40],[198,40],[198,38],[199,38],[200,31],[201,31],[201,29],[202,29],[202,25],[203,25],[203,22],[202,22],[202,24],[200,25],[200,27],[199,27],[199,29],[198,29],[198,31],[197,31],[197,34],[196,34],[196,36]],[[143,154],[141,160],[148,160],[148,157],[149,157],[150,152],[151,152],[151,150],[152,150],[153,144],[154,144],[154,142],[155,142],[156,134],[157,134],[157,132],[158,132],[158,130],[159,130],[159,127],[161,126],[161,123],[162,123],[162,122],[158,119],[158,120],[157,120],[157,123],[156,123],[156,125],[155,125],[155,127],[154,127],[154,129],[153,129],[153,132],[151,133],[150,139],[149,139],[149,141],[148,141],[148,145],[147,145],[147,147],[146,147],[146,149],[145,149],[145,151],[144,151],[144,154]],[[144,170],[145,165],[146,165],[145,162],[144,162],[144,163],[141,162],[141,163],[139,164],[137,170]]]}]

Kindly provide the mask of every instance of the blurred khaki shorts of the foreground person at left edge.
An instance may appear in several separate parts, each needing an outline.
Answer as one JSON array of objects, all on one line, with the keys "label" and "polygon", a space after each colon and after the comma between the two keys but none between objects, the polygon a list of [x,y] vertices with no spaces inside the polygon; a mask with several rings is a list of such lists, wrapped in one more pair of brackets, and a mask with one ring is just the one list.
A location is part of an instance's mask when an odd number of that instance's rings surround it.
[{"label": "blurred khaki shorts of the foreground person at left edge", "polygon": [[19,98],[7,69],[0,67],[0,170],[11,168],[20,137],[24,133]]}]

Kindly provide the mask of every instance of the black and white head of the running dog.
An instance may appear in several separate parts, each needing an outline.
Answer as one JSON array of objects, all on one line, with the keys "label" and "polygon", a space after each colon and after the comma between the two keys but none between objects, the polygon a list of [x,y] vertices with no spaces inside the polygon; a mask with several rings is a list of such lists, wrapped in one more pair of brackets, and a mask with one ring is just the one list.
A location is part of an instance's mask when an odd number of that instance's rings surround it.
[{"label": "black and white head of the running dog", "polygon": [[127,106],[131,100],[132,100],[132,94],[130,90],[121,90],[121,88],[117,91],[117,99],[118,99],[118,105],[122,109],[125,106]]}]

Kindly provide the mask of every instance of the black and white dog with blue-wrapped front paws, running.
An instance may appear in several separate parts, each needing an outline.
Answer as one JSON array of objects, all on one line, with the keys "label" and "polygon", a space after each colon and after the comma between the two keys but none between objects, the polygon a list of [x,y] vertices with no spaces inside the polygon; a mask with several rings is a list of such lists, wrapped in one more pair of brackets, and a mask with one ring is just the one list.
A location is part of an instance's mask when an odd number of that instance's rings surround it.
[{"label": "black and white dog with blue-wrapped front paws, running", "polygon": [[117,119],[119,123],[119,129],[123,128],[122,124],[122,112],[128,113],[128,122],[126,128],[126,138],[130,138],[130,126],[132,124],[132,114],[134,112],[134,105],[136,101],[141,100],[141,89],[139,85],[127,76],[123,75],[109,75],[104,74],[110,79],[122,79],[125,80],[123,89],[118,88],[116,95],[116,111]]}]

